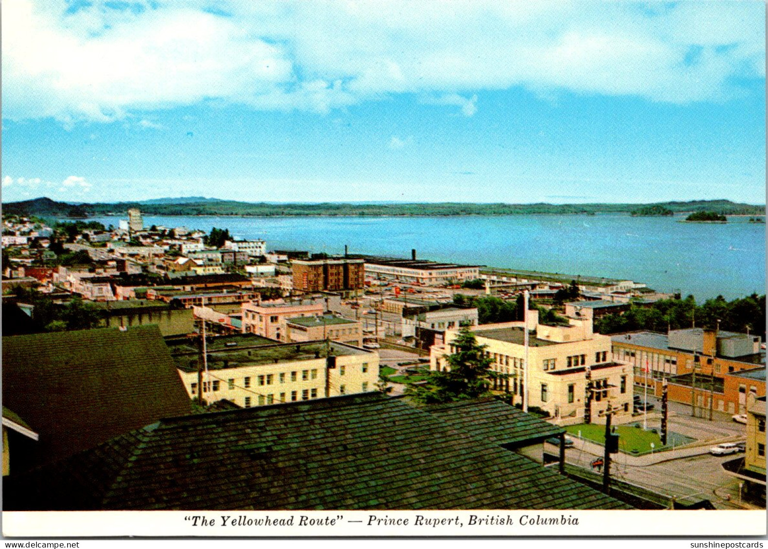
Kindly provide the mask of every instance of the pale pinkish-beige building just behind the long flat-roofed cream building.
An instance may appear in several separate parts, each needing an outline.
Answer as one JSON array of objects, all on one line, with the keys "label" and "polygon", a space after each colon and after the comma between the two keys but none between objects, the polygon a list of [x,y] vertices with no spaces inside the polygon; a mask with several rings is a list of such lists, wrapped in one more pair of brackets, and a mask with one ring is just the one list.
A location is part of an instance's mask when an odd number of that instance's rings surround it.
[{"label": "pale pinkish-beige building just behind the long flat-roofed cream building", "polygon": [[286,321],[301,316],[322,315],[323,303],[304,300],[286,302],[283,299],[265,302],[243,303],[243,333],[289,341]]}]

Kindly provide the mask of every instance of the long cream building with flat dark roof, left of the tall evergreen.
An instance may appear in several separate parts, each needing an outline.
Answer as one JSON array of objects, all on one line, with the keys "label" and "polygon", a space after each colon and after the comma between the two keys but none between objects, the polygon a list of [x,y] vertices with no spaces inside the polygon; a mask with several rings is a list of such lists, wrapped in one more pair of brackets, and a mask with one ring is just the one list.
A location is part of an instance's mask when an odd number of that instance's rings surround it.
[{"label": "long cream building with flat dark roof, left of the tall evergreen", "polygon": [[[209,404],[227,399],[249,408],[376,391],[377,352],[326,341],[257,346],[222,341],[218,349],[207,349],[203,399]],[[172,354],[190,398],[197,398],[197,352]]]}]

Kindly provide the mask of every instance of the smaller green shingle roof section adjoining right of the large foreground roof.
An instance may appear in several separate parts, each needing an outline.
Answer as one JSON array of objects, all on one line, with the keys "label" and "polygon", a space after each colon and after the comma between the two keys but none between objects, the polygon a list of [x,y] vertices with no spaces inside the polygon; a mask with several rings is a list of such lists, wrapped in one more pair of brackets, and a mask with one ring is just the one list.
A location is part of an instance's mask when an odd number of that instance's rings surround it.
[{"label": "smaller green shingle roof section adjoining right of the large foreground roof", "polygon": [[496,445],[540,442],[565,432],[564,428],[526,414],[496,399],[475,399],[425,408],[443,422]]}]

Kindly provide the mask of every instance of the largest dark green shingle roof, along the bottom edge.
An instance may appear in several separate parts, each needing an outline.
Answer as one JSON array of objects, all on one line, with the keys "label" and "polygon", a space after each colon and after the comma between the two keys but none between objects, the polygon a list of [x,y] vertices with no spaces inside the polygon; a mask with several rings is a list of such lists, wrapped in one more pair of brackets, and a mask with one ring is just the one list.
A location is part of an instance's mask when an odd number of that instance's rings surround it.
[{"label": "largest dark green shingle roof, along the bottom edge", "polygon": [[6,477],[3,499],[5,510],[627,508],[379,393],[164,419]]}]

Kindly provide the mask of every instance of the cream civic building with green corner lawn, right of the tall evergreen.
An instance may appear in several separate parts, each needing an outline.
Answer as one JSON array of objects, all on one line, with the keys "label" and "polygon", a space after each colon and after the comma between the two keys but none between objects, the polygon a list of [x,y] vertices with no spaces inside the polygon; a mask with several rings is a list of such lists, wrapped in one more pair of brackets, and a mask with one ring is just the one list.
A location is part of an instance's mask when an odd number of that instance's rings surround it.
[{"label": "cream civic building with green corner lawn, right of the tall evergreen", "polygon": [[[612,361],[611,338],[592,332],[590,320],[547,326],[538,323],[537,311],[529,313],[528,405],[542,408],[564,425],[584,422],[587,408],[591,422],[603,422],[608,402],[618,408],[618,415],[630,416],[633,372],[631,366]],[[495,372],[509,375],[494,389],[508,392],[515,402],[522,402],[525,392],[524,326],[505,322],[471,327]],[[457,335],[458,330],[449,330],[445,344],[432,347],[432,369],[448,367],[445,356],[454,351]]]}]

